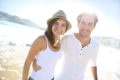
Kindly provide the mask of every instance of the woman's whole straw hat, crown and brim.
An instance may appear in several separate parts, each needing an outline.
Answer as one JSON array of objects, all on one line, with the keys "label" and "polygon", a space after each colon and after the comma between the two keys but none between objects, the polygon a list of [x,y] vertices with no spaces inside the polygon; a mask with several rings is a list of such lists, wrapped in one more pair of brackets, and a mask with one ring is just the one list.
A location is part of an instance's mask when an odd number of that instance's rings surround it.
[{"label": "woman's whole straw hat, crown and brim", "polygon": [[55,18],[62,18],[64,20],[66,20],[68,23],[67,30],[71,29],[71,24],[67,20],[66,14],[62,10],[57,11],[50,19],[48,19],[47,24]]}]

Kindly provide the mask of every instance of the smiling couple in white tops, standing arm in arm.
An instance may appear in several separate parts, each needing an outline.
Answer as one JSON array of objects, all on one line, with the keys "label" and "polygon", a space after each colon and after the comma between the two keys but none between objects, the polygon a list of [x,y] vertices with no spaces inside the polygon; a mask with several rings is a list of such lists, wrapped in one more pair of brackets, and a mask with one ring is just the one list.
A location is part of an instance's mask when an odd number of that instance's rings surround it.
[{"label": "smiling couple in white tops, standing arm in arm", "polygon": [[[96,57],[99,45],[90,37],[98,18],[95,14],[82,13],[77,17],[78,33],[64,36],[71,28],[66,14],[59,10],[47,21],[47,30],[32,44],[26,58],[22,80],[28,79],[31,63],[34,62],[29,80],[84,80],[84,72],[89,61],[94,80],[97,80]],[[62,69],[54,75],[55,66],[63,58]]]}]

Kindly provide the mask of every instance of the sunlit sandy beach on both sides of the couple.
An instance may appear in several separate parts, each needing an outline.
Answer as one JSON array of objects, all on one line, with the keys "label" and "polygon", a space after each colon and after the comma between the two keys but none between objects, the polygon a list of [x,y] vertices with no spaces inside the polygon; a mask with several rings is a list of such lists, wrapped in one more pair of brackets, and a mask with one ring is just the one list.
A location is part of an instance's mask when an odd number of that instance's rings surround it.
[{"label": "sunlit sandy beach on both sides of the couple", "polygon": [[[0,80],[21,80],[25,58],[30,46],[0,44]],[[99,80],[120,80],[120,51],[101,45],[98,55]],[[85,80],[92,80],[89,69]]]}]

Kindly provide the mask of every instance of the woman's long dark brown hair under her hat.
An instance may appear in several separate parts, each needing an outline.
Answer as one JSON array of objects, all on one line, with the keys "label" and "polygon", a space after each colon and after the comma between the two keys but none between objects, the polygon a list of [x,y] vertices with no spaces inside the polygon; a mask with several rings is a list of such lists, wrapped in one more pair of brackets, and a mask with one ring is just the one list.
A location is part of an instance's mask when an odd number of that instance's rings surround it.
[{"label": "woman's long dark brown hair under her hat", "polygon": [[[47,26],[47,29],[45,31],[45,36],[48,38],[50,44],[52,45],[52,47],[54,47],[54,35],[53,35],[53,32],[52,32],[52,26],[53,24],[58,20],[59,18],[55,18],[53,20],[51,20],[49,23],[48,23],[48,26]],[[68,24],[67,24],[68,26]],[[67,27],[66,27],[66,31],[67,31]]]}]

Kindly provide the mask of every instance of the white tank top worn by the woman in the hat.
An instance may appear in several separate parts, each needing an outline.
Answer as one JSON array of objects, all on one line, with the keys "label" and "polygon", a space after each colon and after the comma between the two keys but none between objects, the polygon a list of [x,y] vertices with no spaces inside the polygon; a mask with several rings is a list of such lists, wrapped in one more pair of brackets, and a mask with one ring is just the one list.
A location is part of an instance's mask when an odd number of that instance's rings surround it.
[{"label": "white tank top worn by the woman in the hat", "polygon": [[54,77],[56,63],[62,56],[61,48],[58,51],[52,51],[49,48],[46,36],[45,38],[47,43],[46,49],[38,52],[36,55],[36,64],[42,68],[38,71],[32,71],[31,77],[34,80],[51,80]]}]

